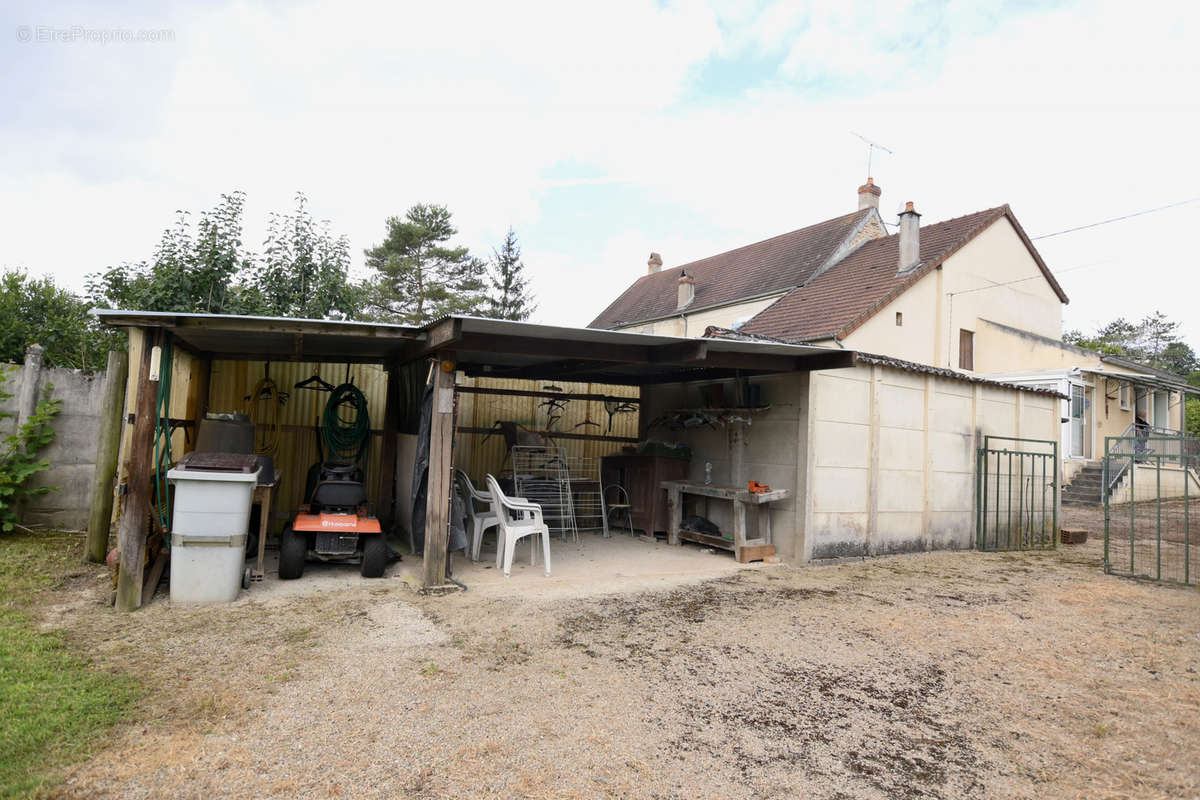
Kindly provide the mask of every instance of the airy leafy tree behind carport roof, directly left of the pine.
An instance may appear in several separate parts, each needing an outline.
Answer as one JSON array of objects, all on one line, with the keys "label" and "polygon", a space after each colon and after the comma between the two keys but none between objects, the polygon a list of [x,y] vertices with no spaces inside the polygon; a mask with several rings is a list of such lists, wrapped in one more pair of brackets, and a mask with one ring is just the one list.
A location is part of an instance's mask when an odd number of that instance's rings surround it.
[{"label": "airy leafy tree behind carport roof, directly left of the pine", "polygon": [[242,305],[256,313],[308,319],[348,319],[359,294],[350,285],[350,245],[335,237],[328,219],[316,222],[296,192],[293,213],[272,213],[265,252],[250,267]]}]

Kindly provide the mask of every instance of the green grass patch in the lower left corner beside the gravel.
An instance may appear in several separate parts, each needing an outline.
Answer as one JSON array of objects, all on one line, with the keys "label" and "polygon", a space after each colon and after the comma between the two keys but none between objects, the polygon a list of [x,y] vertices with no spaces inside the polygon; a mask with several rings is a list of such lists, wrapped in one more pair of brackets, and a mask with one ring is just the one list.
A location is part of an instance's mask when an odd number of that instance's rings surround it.
[{"label": "green grass patch in the lower left corner beside the gravel", "polygon": [[80,536],[0,536],[0,798],[41,794],[121,718],[131,678],[92,669],[36,630],[42,593],[80,571]]}]

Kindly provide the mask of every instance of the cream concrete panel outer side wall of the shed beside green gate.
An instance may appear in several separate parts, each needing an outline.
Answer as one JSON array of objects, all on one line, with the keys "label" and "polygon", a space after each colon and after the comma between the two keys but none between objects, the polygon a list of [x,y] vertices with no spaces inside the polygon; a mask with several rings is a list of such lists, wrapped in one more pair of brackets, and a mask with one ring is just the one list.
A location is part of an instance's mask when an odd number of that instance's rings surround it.
[{"label": "cream concrete panel outer side wall of the shed beside green gate", "polygon": [[1046,395],[859,366],[814,373],[804,554],[970,548],[983,437],[1057,440]]}]

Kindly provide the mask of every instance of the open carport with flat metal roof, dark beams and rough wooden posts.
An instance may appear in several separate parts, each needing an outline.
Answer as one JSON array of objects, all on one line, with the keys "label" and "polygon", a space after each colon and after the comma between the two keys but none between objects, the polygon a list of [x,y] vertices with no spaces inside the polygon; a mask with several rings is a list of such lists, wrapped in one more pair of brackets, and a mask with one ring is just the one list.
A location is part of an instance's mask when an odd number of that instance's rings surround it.
[{"label": "open carport with flat metal roof, dark beams and rough wooden posts", "polygon": [[[218,387],[216,362],[311,362],[313,365],[378,365],[386,374],[386,410],[382,428],[377,506],[386,523],[395,521],[396,433],[412,425],[414,393],[433,381],[428,438],[428,509],[422,583],[427,590],[448,588],[446,548],[450,518],[452,447],[456,435],[457,375],[529,380],[596,381],[652,386],[739,379],[754,375],[851,367],[847,350],[734,339],[682,339],[590,329],[557,327],[505,320],[452,317],[422,327],[166,312],[94,312],[102,324],[130,332],[130,380],[118,423],[125,426],[120,474],[125,491],[120,516],[121,565],[146,560],[152,449],[158,422],[158,365],[154,348],[168,341],[179,350],[166,416],[173,428],[196,427]],[[436,365],[436,367],[434,367]],[[416,391],[414,392],[414,387]],[[644,427],[644,421],[643,421]],[[186,450],[186,433],[175,441]],[[306,467],[306,465],[305,465]],[[112,497],[94,503],[113,501]],[[94,509],[94,518],[96,510]],[[100,518],[108,518],[101,516]],[[107,530],[104,531],[107,535]],[[94,534],[95,535],[95,534]],[[138,608],[143,570],[121,570],[119,608]]]}]

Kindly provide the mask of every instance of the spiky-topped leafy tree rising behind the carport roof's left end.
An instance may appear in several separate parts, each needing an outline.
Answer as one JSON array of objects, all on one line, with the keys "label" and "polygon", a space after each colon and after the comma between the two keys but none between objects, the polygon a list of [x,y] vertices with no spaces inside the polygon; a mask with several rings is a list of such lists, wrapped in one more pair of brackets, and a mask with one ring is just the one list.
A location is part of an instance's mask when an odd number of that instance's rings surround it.
[{"label": "spiky-topped leafy tree rising behind the carport roof's left end", "polygon": [[192,234],[188,212],[163,231],[152,260],[121,264],[88,276],[92,300],[108,308],[238,313],[244,293],[234,278],[250,266],[241,241],[242,192],[222,194],[200,213]]}]

